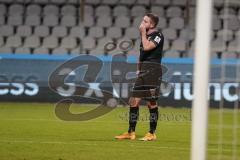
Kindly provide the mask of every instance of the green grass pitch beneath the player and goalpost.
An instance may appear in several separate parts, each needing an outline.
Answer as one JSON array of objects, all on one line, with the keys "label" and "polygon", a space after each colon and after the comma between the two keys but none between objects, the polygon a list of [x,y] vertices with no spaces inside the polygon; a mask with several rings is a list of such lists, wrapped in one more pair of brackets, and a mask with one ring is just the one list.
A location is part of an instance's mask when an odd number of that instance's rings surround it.
[{"label": "green grass pitch beneath the player and goalpost", "polygon": [[[85,112],[96,105],[75,104],[73,113]],[[191,110],[160,107],[157,140],[115,140],[128,128],[128,109],[112,112],[85,122],[67,122],[54,114],[54,104],[0,103],[1,160],[188,160],[191,144]],[[219,111],[209,111],[208,159],[240,159],[240,112],[223,110],[222,145],[218,145]],[[148,110],[140,108],[136,133],[140,138],[148,131]],[[233,134],[233,130],[235,133]],[[234,144],[235,143],[235,144]],[[234,145],[235,147],[234,147]],[[220,147],[222,146],[222,147]]]}]

